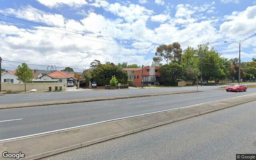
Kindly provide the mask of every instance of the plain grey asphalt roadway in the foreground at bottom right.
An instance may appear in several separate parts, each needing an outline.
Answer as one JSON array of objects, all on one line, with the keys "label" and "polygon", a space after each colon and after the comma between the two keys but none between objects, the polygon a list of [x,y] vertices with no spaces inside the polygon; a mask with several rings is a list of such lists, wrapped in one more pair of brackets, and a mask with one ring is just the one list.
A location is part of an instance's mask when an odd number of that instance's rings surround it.
[{"label": "plain grey asphalt roadway in the foreground at bottom right", "polygon": [[44,160],[235,160],[256,153],[256,101]]}]

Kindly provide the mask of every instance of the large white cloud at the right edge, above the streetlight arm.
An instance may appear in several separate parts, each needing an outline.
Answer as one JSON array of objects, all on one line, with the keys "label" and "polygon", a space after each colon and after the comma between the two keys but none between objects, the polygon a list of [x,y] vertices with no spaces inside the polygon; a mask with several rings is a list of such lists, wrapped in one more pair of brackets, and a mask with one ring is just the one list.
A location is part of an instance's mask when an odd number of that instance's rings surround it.
[{"label": "large white cloud at the right edge, above the streetlight arm", "polygon": [[256,6],[250,6],[242,12],[233,12],[224,16],[226,21],[220,25],[220,32],[227,39],[242,40],[255,34]]}]

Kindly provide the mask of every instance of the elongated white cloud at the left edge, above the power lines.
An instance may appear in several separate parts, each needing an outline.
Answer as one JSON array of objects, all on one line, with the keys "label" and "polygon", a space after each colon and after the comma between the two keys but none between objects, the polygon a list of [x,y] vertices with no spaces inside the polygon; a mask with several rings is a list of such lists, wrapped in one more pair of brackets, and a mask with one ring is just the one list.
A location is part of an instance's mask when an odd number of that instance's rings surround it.
[{"label": "elongated white cloud at the left edge, above the power lines", "polygon": [[54,26],[64,26],[65,21],[61,14],[46,13],[29,5],[18,9],[6,8],[4,10],[0,10],[0,13],[15,15],[18,18],[24,18],[34,22],[44,22],[48,25]]}]

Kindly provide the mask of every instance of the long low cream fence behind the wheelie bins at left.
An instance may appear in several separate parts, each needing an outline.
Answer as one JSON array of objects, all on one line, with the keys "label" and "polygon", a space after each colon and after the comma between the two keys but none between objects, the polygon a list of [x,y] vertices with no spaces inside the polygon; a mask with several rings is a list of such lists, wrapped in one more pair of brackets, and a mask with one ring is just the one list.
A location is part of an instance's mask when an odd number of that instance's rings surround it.
[{"label": "long low cream fence behind the wheelie bins at left", "polygon": [[[52,89],[55,86],[62,86],[62,89],[66,89],[66,83],[27,83],[26,84],[26,90],[48,90],[49,87],[52,87]],[[2,91],[5,90],[11,90],[11,91],[24,91],[25,90],[25,84],[24,83],[1,83]]]}]

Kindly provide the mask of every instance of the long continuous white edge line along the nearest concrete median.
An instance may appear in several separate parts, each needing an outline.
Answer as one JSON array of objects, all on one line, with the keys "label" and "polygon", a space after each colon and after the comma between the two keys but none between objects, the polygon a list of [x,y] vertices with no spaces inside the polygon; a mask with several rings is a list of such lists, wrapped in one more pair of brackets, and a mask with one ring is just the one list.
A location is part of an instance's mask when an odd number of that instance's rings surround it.
[{"label": "long continuous white edge line along the nearest concrete median", "polygon": [[[256,94],[256,93],[251,93],[251,94]],[[245,94],[245,95],[242,95],[242,96],[248,96],[248,95],[251,95],[251,94]],[[242,96],[237,96],[237,97],[232,97],[232,98],[238,98],[238,97],[242,97]],[[232,99],[232,98],[225,98],[225,99],[222,99],[222,100],[228,100],[228,99]],[[122,119],[125,119],[125,118],[132,118],[132,117],[144,116],[144,115],[148,115],[148,114],[154,114],[154,113],[160,113],[160,112],[167,112],[167,111],[170,111],[170,110],[178,110],[178,109],[181,109],[181,108],[187,108],[187,107],[191,107],[191,106],[198,106],[198,105],[201,105],[201,104],[207,104],[207,103],[218,102],[218,101],[221,101],[221,100],[214,100],[214,101],[211,101],[211,102],[204,102],[204,103],[200,103],[200,104],[193,104],[193,105],[190,105],[190,106],[185,106],[185,107],[180,107],[180,108],[173,108],[173,109],[169,109],[169,110],[161,110],[161,111],[157,111],[157,112],[139,114],[139,115],[136,115],[136,116],[128,116],[128,117],[116,118],[116,119],[112,119],[112,120],[105,120],[105,121],[102,121],[102,122],[96,122],[96,123],[91,123],[91,124],[85,124],[85,125],[82,125],[82,126],[75,126],[75,127],[64,128],[64,129],[60,129],[60,130],[52,130],[52,131],[48,131],[48,132],[42,132],[42,133],[37,133],[37,134],[31,134],[31,135],[27,135],[27,136],[20,136],[20,137],[8,138],[8,139],[0,140],[0,142],[6,141],[6,140],[19,139],[19,138],[26,138],[26,137],[31,137],[31,136],[38,136],[38,135],[47,134],[47,133],[52,133],[52,132],[59,132],[59,131],[63,131],[63,130],[70,130],[70,129],[74,129],[74,128],[85,127],[85,126],[90,126],[90,125],[94,125],[94,124],[100,124],[100,123],[104,123],[104,122],[111,122],[111,121],[114,121],[114,120],[122,120]]]}]

